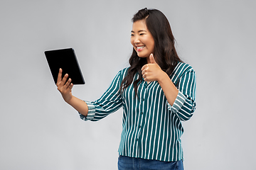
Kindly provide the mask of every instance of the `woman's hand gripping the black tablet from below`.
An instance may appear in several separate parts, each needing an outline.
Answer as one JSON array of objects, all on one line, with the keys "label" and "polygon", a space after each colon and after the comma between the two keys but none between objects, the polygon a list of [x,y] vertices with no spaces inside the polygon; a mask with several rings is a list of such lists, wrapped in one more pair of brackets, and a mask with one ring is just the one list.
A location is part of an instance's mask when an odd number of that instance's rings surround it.
[{"label": "woman's hand gripping the black tablet from below", "polygon": [[73,97],[71,92],[73,88],[73,84],[71,83],[71,79],[70,78],[68,79],[68,74],[65,74],[65,76],[62,79],[62,72],[63,70],[60,69],[58,73],[56,86],[58,87],[58,91],[60,91],[60,94],[63,96],[64,101],[69,103],[71,98]]}]

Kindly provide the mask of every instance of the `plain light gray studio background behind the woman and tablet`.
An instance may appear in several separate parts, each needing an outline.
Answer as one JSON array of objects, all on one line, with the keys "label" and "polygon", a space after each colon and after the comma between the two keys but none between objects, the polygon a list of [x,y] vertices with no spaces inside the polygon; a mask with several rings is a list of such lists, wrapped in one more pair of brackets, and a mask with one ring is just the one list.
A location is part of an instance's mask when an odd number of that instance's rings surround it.
[{"label": "plain light gray studio background behind the woman and tablet", "polygon": [[197,73],[184,122],[189,170],[255,169],[256,1],[7,1],[0,5],[0,169],[117,169],[122,110],[80,120],[56,89],[45,50],[73,47],[94,101],[132,52],[131,18],[158,8]]}]

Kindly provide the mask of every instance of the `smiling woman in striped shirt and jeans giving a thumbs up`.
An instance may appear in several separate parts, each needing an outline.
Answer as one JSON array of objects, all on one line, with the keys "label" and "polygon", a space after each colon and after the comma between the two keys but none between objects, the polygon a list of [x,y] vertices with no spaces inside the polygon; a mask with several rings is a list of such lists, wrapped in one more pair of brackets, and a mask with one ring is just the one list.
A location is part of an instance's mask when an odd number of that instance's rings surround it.
[{"label": "smiling woman in striped shirt and jeans giving a thumbs up", "polygon": [[144,8],[132,21],[131,66],[119,71],[100,99],[75,98],[61,69],[58,90],[83,120],[100,120],[123,108],[119,169],[183,169],[181,121],[196,109],[196,74],[179,59],[161,11]]}]

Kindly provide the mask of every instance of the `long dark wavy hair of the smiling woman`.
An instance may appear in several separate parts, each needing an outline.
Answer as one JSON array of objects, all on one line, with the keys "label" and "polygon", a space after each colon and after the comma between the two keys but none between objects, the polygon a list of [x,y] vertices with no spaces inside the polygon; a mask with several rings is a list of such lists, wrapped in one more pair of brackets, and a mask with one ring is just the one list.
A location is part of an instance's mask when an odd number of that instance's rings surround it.
[{"label": "long dark wavy hair of the smiling woman", "polygon": [[[154,59],[159,67],[169,76],[174,71],[178,62],[182,62],[178,57],[174,46],[174,35],[171,31],[171,26],[164,13],[157,9],[143,8],[134,14],[132,22],[139,20],[146,21],[146,28],[154,38]],[[132,51],[132,56],[129,58],[129,67],[127,76],[121,82],[120,91],[122,92],[132,84],[135,74],[139,74],[139,79],[135,80],[134,91],[137,96],[138,85],[142,82],[142,67],[147,64],[146,58],[141,58],[137,52]]]}]

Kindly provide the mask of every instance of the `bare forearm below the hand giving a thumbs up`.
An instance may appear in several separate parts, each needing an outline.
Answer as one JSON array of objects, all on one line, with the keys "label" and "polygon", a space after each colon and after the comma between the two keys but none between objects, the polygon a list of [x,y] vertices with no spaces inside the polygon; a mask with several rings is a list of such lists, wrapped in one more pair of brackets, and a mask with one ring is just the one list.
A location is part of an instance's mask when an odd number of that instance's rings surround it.
[{"label": "bare forearm below the hand giving a thumbs up", "polygon": [[178,89],[176,86],[174,86],[173,82],[171,81],[170,77],[166,74],[166,72],[163,72],[161,76],[158,79],[159,85],[161,86],[161,89],[164,91],[164,95],[166,96],[166,99],[168,103],[173,106],[174,101],[176,100],[176,97],[178,95]]}]

